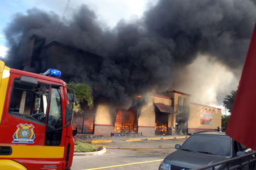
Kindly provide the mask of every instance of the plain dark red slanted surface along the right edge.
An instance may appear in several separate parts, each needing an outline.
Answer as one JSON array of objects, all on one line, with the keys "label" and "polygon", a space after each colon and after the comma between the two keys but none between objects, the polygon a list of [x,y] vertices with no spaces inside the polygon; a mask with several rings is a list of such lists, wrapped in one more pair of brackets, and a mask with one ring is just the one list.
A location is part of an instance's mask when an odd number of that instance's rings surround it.
[{"label": "plain dark red slanted surface along the right edge", "polygon": [[256,150],[256,25],[226,134],[246,147]]}]

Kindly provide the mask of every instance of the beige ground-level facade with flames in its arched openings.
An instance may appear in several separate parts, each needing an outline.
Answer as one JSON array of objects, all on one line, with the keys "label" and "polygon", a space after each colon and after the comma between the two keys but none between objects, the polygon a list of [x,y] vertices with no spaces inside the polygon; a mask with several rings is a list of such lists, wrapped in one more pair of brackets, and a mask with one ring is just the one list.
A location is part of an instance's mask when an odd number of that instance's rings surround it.
[{"label": "beige ground-level facade with flames in its arched openings", "polygon": [[[92,131],[81,131],[81,123],[77,124],[76,121],[81,116],[77,114],[73,119],[73,127],[79,127],[80,134],[94,136],[133,133],[144,136],[190,135],[198,131],[215,131],[217,126],[221,127],[221,109],[193,103],[190,96],[176,90],[166,92],[166,96],[152,94],[139,112],[134,109],[116,109],[101,103],[93,111],[87,109],[91,118],[87,116],[90,121],[84,124],[84,129],[93,125]],[[85,111],[84,115],[88,113]]]}]

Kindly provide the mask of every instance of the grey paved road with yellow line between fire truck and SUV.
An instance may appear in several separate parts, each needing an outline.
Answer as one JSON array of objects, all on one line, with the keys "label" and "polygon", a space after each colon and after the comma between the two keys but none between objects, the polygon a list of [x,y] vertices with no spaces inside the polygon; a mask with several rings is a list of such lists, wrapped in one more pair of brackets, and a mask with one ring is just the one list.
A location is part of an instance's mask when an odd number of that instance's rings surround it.
[{"label": "grey paved road with yellow line between fire truck and SUV", "polygon": [[[185,139],[168,139],[168,140],[142,140],[139,142],[125,142],[122,138],[115,138],[112,143],[102,143],[104,146],[110,147],[174,147],[175,144],[182,144]],[[153,150],[120,150],[109,149],[102,155],[86,155],[74,156],[71,170],[82,170],[89,168],[108,167],[112,165],[137,163],[142,161],[164,159],[168,154],[174,152],[175,149],[153,149]],[[125,167],[116,167],[108,169],[158,169],[161,161],[154,163],[145,163],[137,165],[129,165]]]}]

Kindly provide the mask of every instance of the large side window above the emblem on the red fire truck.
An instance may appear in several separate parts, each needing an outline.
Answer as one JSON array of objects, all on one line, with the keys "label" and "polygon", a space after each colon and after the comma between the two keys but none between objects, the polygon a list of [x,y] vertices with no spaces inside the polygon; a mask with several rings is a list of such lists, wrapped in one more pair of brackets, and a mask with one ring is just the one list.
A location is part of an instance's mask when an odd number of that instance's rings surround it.
[{"label": "large side window above the emblem on the red fire truck", "polygon": [[16,78],[11,94],[9,114],[32,122],[46,123],[49,85],[37,86],[21,84]]}]

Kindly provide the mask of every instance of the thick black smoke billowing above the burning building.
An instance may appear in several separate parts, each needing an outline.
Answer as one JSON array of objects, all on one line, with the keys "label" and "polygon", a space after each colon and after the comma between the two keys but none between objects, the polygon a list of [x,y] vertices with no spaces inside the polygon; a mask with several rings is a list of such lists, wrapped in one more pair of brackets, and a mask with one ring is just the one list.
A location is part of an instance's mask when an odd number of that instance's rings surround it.
[{"label": "thick black smoke billowing above the burning building", "polygon": [[[26,60],[28,38],[38,34],[51,41],[60,18],[53,11],[37,8],[16,14],[5,29],[10,47],[7,63],[22,67],[19,61]],[[55,40],[108,59],[100,66],[100,73],[77,78],[97,86],[97,93],[109,101],[130,106],[136,103],[134,96],[173,88],[199,96],[189,88],[196,83],[184,81],[190,80],[189,74],[182,74],[194,61],[200,62],[196,60],[199,55],[207,56],[207,64],[221,65],[224,72],[239,77],[255,18],[256,7],[249,0],[159,0],[140,18],[120,20],[110,28],[99,22],[96,11],[80,5],[64,19]],[[201,73],[197,74],[200,77]],[[216,74],[202,74],[202,84],[211,76]],[[221,105],[220,96],[229,93],[229,85],[225,80],[216,81],[223,82],[218,82],[213,92],[216,105]],[[207,82],[205,89],[210,88]],[[224,84],[226,90],[218,90]],[[203,102],[209,104],[207,99]]]}]

